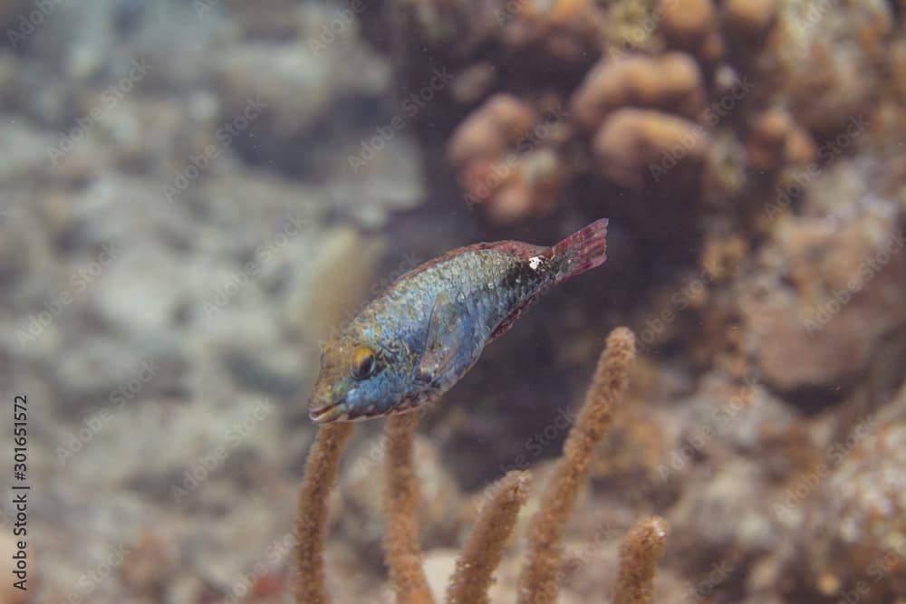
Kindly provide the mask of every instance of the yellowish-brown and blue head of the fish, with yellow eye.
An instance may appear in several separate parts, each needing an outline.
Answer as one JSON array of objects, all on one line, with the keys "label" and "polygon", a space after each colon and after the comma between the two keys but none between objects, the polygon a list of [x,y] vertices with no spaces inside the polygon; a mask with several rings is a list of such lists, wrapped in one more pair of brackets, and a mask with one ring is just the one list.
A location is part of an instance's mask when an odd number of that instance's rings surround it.
[{"label": "yellowish-brown and blue head of the fish, with yellow eye", "polygon": [[404,395],[404,379],[377,342],[344,336],[324,344],[321,370],[308,406],[318,423],[387,415]]}]

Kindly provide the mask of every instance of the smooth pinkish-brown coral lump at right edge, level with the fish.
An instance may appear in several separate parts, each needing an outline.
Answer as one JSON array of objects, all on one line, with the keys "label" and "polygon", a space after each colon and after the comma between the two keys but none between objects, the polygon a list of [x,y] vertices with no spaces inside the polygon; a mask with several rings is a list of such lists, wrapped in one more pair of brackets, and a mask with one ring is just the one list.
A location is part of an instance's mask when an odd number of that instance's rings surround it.
[{"label": "smooth pinkish-brown coral lump at right edge, level with the fish", "polygon": [[872,212],[837,224],[785,221],[775,237],[762,262],[784,258],[786,266],[766,275],[778,283],[770,295],[742,306],[747,345],[775,388],[839,392],[872,365],[885,334],[903,329],[895,301],[906,292],[906,240]]}]

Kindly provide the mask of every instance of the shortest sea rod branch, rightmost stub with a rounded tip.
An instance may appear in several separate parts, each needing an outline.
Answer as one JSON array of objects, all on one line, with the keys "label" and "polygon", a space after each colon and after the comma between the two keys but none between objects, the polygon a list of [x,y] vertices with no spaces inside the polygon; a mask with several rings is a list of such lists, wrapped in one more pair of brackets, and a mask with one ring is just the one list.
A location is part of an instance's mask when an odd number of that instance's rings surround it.
[{"label": "shortest sea rod branch, rightmost stub with a rounded tip", "polygon": [[620,574],[613,590],[613,604],[651,604],[654,601],[654,570],[670,527],[663,518],[642,518],[623,537]]}]

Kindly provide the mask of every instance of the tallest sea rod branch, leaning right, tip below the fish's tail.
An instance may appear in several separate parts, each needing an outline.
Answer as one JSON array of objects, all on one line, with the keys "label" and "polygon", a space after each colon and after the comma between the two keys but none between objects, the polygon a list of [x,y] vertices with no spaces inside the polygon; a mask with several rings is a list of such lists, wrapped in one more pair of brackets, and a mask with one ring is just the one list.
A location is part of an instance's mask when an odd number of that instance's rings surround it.
[{"label": "tallest sea rod branch, leaning right, tip below the fish's tail", "polygon": [[550,604],[557,594],[564,527],[591,463],[593,446],[611,424],[611,408],[626,389],[627,372],[635,358],[635,337],[624,327],[614,329],[598,360],[592,385],[564,444],[541,509],[528,537],[528,561],[519,578],[519,604]]}]

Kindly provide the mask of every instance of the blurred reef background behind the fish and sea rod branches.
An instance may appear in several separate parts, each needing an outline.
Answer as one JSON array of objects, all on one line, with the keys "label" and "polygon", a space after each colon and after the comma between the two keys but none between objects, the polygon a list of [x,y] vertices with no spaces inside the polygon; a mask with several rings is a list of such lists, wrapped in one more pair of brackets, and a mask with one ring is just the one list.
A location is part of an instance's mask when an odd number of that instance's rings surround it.
[{"label": "blurred reef background behind the fish and sea rod branches", "polygon": [[[906,602],[903,0],[0,0],[0,34],[0,604],[294,601],[324,341],[450,249],[601,217],[606,263],[420,417],[436,597],[529,470],[515,601],[626,326],[558,601],[612,601],[657,514],[655,602]],[[329,499],[335,602],[395,601],[384,421]]]}]

